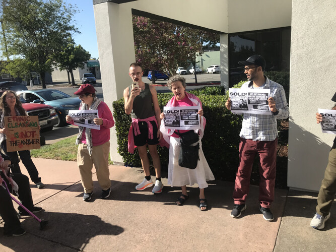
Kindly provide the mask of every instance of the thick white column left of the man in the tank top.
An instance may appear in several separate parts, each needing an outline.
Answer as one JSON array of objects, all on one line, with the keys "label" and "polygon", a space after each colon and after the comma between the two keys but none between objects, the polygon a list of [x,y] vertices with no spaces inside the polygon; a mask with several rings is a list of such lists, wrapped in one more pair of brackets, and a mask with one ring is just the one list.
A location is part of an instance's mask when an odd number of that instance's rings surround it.
[{"label": "thick white column left of the man in the tank top", "polygon": [[[123,90],[131,82],[129,65],[136,60],[131,9],[110,2],[93,7],[104,101],[113,111],[112,102],[123,97]],[[117,153],[115,127],[111,129],[110,143],[111,160],[123,164]]]}]

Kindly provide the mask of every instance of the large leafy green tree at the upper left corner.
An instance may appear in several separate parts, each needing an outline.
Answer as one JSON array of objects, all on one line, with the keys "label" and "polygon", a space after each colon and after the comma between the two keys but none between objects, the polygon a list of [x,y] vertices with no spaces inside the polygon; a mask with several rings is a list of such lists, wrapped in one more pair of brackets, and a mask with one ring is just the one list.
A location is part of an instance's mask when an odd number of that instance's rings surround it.
[{"label": "large leafy green tree at the upper left corner", "polygon": [[[52,72],[52,55],[66,38],[78,32],[72,24],[77,8],[65,5],[63,0],[2,0],[1,8],[8,48],[5,56],[16,57],[19,65],[28,60],[29,72],[39,73],[46,88],[45,73]],[[4,41],[2,47],[6,54]]]}]

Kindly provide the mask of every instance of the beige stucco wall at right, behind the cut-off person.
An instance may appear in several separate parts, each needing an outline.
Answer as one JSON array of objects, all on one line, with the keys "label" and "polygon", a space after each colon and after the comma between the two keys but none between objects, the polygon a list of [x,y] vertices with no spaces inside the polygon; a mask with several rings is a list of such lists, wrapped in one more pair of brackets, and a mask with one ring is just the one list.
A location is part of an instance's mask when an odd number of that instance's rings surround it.
[{"label": "beige stucco wall at right, behind the cut-off person", "polygon": [[296,0],[292,9],[288,185],[318,191],[334,135],[321,133],[318,108],[336,86],[336,1]]}]

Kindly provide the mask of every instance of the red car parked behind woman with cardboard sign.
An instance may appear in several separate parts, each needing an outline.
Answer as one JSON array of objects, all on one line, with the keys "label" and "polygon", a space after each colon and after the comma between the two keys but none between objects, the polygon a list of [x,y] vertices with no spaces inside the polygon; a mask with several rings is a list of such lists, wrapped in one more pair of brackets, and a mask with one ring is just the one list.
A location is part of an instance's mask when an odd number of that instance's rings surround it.
[{"label": "red car parked behind woman with cardboard sign", "polygon": [[[5,90],[0,91],[0,96]],[[37,115],[39,124],[41,129],[49,129],[52,130],[52,127],[58,123],[58,115],[56,114],[56,110],[46,104],[38,104],[38,103],[29,103],[25,101],[21,96],[20,101],[22,103],[22,107],[27,111],[29,116]]]}]

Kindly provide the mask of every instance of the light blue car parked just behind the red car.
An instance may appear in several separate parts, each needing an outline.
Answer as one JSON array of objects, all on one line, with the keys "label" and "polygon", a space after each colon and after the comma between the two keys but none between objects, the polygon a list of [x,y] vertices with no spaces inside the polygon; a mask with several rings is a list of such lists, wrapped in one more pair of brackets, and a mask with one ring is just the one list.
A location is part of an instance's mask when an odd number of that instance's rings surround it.
[{"label": "light blue car parked just behind the red car", "polygon": [[81,100],[56,89],[26,90],[17,92],[23,99],[30,103],[44,103],[52,106],[58,115],[55,127],[66,124],[65,116],[69,110],[79,109]]}]

